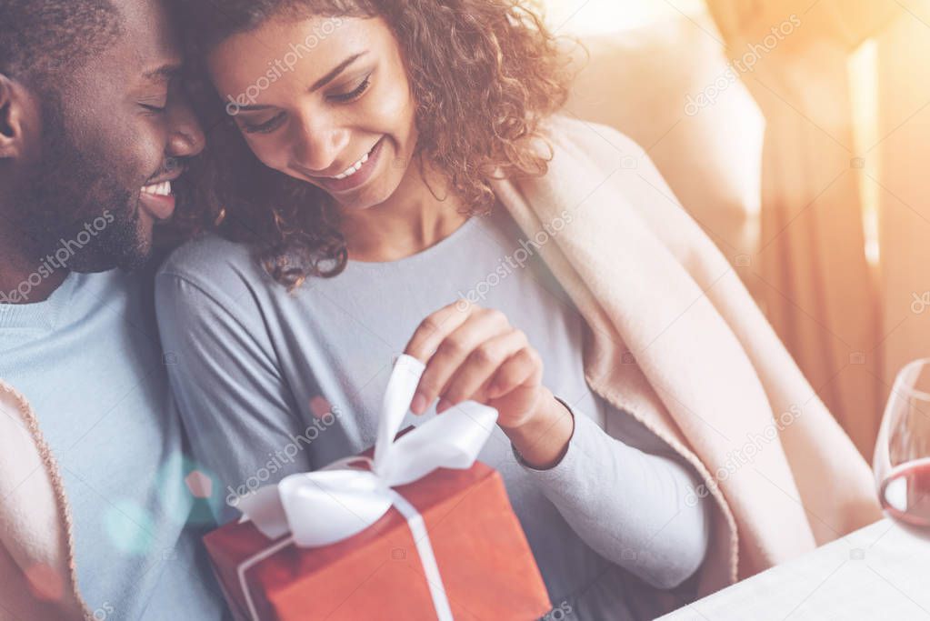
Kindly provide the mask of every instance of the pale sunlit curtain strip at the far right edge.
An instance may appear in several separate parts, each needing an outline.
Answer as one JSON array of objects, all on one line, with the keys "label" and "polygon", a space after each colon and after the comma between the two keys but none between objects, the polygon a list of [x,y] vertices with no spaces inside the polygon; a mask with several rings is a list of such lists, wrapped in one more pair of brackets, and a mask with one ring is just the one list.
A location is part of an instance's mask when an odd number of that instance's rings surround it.
[{"label": "pale sunlit curtain strip at the far right edge", "polygon": [[885,393],[901,366],[930,356],[930,3],[902,8],[872,44],[876,139],[866,156],[879,216]]}]

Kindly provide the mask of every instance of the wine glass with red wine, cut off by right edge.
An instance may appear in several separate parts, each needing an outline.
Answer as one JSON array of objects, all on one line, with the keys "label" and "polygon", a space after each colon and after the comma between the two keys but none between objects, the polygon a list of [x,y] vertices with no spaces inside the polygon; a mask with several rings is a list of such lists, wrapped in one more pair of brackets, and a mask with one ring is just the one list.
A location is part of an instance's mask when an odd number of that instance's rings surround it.
[{"label": "wine glass with red wine, cut off by right edge", "polygon": [[872,466],[885,514],[930,537],[930,358],[897,374]]}]

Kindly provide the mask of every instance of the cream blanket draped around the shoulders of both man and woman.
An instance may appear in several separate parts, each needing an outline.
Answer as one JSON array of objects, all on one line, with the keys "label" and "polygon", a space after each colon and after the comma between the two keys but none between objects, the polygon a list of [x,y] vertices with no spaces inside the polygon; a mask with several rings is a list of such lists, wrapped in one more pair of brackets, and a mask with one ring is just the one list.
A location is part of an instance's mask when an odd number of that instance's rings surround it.
[{"label": "cream blanket draped around the shoulders of both man and woman", "polygon": [[[496,192],[587,320],[591,389],[704,478],[715,519],[699,593],[877,520],[866,463],[643,151],[565,118],[551,144],[546,177]],[[13,494],[0,505],[0,619],[81,618],[54,459],[21,395],[0,383],[0,403],[0,497]],[[31,596],[24,568],[55,603]]]}]

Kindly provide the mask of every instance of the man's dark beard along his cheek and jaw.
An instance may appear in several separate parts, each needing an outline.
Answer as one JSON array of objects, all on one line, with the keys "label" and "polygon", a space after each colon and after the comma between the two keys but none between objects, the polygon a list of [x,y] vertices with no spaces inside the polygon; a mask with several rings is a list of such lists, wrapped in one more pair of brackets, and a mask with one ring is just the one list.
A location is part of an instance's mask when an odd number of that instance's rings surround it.
[{"label": "man's dark beard along his cheek and jaw", "polygon": [[18,192],[17,224],[37,261],[95,272],[141,267],[151,243],[140,233],[139,190],[127,190],[104,159],[78,147],[60,106],[43,104],[41,160]]}]

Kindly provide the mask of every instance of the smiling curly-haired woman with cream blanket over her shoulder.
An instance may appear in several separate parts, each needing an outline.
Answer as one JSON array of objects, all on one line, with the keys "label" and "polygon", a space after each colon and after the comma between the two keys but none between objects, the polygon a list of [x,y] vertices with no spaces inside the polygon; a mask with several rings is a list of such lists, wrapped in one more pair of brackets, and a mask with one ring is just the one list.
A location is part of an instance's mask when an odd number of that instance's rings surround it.
[{"label": "smiling curly-haired woman with cream blanket over her shoulder", "polygon": [[[503,475],[563,614],[651,617],[669,605],[662,591],[690,599],[698,575],[701,592],[733,580],[737,521],[751,536],[769,526],[741,505],[735,521],[708,467],[730,447],[721,439],[772,422],[788,387],[760,375],[809,387],[757,315],[755,353],[770,354],[758,371],[735,336],[745,331],[710,304],[680,304],[676,284],[704,278],[690,280],[685,255],[725,262],[669,205],[647,158],[621,165],[635,145],[555,115],[565,71],[538,17],[517,0],[193,0],[184,10],[227,116],[200,171],[201,205],[224,219],[221,236],[183,247],[161,271],[159,324],[195,453],[230,504],[259,481],[373,443],[392,359],[405,351],[426,363],[408,422],[465,400],[498,409],[480,458]],[[586,212],[605,197],[614,210]],[[604,228],[614,254],[587,256]],[[653,268],[611,262],[636,249]],[[611,287],[658,264],[674,277],[629,310],[612,304]],[[757,313],[737,280],[724,279],[724,297]],[[709,379],[685,344],[718,333],[735,386]],[[631,347],[642,338],[654,342]],[[635,362],[620,355],[627,348]],[[813,398],[804,414],[822,422]],[[862,482],[842,432],[826,437]],[[793,489],[786,464],[776,442],[759,467]],[[817,535],[798,507],[763,504],[798,534],[751,546],[749,571]],[[718,551],[708,555],[711,517]]]}]

